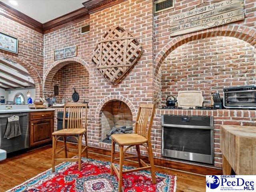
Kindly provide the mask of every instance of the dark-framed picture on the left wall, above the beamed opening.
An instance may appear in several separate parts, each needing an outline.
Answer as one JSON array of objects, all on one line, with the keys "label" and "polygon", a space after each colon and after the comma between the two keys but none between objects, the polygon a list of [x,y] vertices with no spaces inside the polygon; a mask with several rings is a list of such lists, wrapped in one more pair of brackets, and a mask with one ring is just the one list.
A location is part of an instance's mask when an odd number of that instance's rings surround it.
[{"label": "dark-framed picture on the left wall, above the beamed opening", "polygon": [[18,54],[18,39],[0,32],[0,49]]}]

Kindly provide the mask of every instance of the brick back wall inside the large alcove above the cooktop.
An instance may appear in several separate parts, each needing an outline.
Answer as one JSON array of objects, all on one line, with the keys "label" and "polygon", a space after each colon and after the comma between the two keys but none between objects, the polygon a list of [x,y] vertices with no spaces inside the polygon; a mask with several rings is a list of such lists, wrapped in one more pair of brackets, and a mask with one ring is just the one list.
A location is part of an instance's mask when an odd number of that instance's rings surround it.
[{"label": "brick back wall inside the large alcove above the cooktop", "polygon": [[162,104],[182,90],[200,90],[204,106],[212,91],[255,84],[256,49],[233,37],[194,40],[172,51],[161,65]]}]

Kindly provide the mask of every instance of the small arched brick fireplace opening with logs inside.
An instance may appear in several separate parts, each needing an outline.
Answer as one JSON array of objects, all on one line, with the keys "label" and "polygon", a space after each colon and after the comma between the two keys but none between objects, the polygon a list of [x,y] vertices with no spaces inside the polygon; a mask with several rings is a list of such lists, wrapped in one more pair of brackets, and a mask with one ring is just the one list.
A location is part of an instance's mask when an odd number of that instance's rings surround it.
[{"label": "small arched brick fireplace opening with logs inside", "polygon": [[111,100],[100,111],[101,140],[111,143],[111,134],[132,132],[132,112],[128,105],[120,100]]}]

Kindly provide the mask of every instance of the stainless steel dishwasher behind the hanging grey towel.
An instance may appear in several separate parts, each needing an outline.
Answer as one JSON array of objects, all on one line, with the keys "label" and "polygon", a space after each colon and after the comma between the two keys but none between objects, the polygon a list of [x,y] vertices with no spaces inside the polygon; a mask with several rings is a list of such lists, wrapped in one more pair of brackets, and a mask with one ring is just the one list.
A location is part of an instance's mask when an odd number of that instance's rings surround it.
[{"label": "stainless steel dishwasher behind the hanging grey towel", "polygon": [[[4,133],[8,123],[8,117],[19,116],[21,135],[6,139]],[[0,114],[0,149],[6,150],[7,153],[26,149],[29,147],[29,131],[28,131],[28,113],[9,113]]]}]

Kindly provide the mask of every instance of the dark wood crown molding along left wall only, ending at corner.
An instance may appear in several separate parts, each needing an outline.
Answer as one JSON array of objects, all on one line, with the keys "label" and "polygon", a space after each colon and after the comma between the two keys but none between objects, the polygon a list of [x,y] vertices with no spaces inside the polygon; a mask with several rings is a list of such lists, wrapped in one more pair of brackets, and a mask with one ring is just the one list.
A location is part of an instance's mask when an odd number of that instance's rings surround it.
[{"label": "dark wood crown molding along left wall only, ending at corner", "polygon": [[44,32],[42,23],[4,4],[3,2],[0,2],[0,14],[35,31],[40,33]]}]

